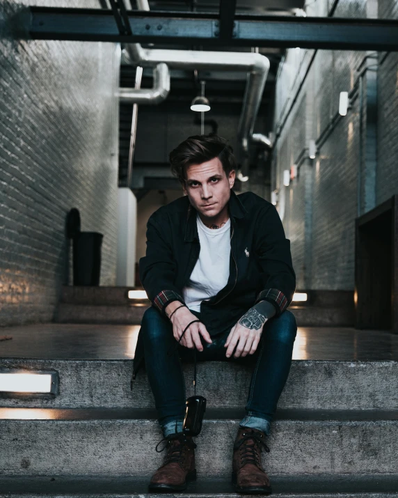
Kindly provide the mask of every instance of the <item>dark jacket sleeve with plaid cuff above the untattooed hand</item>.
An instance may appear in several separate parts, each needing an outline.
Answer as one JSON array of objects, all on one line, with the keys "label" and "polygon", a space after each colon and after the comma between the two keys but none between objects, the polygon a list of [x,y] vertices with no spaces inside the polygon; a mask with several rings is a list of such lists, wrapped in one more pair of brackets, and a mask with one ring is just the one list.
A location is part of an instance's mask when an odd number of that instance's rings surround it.
[{"label": "dark jacket sleeve with plaid cuff above the untattooed hand", "polygon": [[155,213],[150,216],[146,233],[146,254],[138,263],[143,288],[152,304],[164,316],[165,308],[170,302],[184,303],[180,289],[174,284],[177,268],[165,228],[161,221],[157,221]]}]

